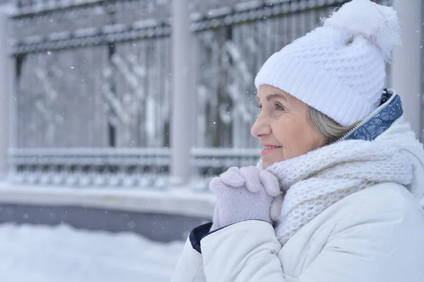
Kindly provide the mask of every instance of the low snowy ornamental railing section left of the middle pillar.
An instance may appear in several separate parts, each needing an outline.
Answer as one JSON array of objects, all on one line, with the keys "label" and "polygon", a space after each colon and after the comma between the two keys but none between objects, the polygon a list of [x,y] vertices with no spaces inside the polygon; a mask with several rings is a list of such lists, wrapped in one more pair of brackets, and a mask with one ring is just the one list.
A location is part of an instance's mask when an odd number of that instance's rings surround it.
[{"label": "low snowy ornamental railing section left of the middle pillar", "polygon": [[163,187],[170,152],[165,148],[18,149],[11,152],[20,184],[91,187]]}]

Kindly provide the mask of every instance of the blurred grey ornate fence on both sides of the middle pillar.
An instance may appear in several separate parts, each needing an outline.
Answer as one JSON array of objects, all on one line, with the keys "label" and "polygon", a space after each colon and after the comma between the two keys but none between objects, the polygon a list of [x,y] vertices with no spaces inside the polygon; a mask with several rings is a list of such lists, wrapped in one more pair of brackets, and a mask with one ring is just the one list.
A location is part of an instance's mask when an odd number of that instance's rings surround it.
[{"label": "blurred grey ornate fence on both sides of the middle pillar", "polygon": [[[175,110],[169,2],[16,1],[12,181],[167,185]],[[259,143],[249,133],[257,114],[254,75],[273,52],[344,2],[191,2],[198,117],[192,160],[198,177],[255,163]]]}]

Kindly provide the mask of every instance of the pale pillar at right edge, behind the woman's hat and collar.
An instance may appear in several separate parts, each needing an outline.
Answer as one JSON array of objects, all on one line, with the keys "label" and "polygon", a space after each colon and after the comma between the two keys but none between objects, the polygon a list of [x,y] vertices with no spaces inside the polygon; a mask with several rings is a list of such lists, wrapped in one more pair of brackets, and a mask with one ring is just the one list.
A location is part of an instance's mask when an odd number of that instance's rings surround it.
[{"label": "pale pillar at right edge, behind the woman's hat and collar", "polygon": [[394,50],[391,66],[391,87],[401,95],[404,115],[416,133],[421,134],[421,0],[393,0],[401,24],[403,45]]}]

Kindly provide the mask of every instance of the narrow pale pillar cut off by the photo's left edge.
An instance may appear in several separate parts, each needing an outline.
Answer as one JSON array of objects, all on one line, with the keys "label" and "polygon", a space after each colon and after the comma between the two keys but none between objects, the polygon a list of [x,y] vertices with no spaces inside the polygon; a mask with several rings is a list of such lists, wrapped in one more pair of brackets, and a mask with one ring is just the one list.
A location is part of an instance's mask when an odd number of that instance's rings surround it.
[{"label": "narrow pale pillar cut off by the photo's left edge", "polygon": [[6,13],[0,13],[0,180],[8,172],[8,144],[9,144],[9,92],[10,69],[7,48],[7,18]]}]

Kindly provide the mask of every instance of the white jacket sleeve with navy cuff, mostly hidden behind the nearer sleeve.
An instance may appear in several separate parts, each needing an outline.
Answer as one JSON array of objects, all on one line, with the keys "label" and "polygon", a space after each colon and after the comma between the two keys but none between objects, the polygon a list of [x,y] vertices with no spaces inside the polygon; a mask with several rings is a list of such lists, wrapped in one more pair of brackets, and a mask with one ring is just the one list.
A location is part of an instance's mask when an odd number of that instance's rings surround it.
[{"label": "white jacket sleeve with navy cuff, mostly hidden behind the nearer sleeve", "polygon": [[200,240],[211,230],[211,225],[212,223],[206,223],[192,230],[172,274],[171,282],[206,282]]}]

